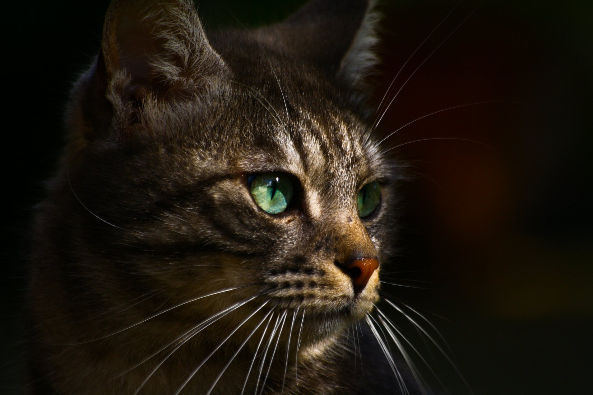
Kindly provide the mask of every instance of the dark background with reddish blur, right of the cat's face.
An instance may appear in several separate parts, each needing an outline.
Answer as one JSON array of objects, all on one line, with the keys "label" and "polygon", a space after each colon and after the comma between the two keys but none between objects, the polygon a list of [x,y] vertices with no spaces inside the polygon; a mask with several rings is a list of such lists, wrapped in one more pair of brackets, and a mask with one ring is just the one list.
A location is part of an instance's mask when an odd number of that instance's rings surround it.
[{"label": "dark background with reddish blur, right of the cat's face", "polygon": [[[392,2],[388,86],[455,2]],[[463,2],[401,85],[476,3]],[[486,1],[424,63],[381,122],[413,163],[401,265],[433,291],[402,299],[444,332],[476,394],[588,393],[593,364],[593,2]],[[383,89],[384,90],[384,89]],[[394,276],[395,277],[395,276]],[[412,282],[409,284],[420,284]],[[403,295],[390,288],[391,294]],[[446,363],[437,364],[447,371]],[[454,381],[454,372],[443,381]],[[446,384],[452,394],[463,385]]]}]

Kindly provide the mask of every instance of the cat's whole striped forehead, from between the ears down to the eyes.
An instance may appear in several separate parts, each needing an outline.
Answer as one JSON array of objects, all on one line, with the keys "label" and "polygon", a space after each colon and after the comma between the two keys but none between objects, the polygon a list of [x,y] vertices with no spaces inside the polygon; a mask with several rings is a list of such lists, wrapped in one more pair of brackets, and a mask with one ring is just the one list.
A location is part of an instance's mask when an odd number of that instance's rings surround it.
[{"label": "cat's whole striped forehead, from between the ears down to the eyes", "polygon": [[212,155],[230,162],[233,172],[286,172],[305,189],[333,195],[388,177],[351,92],[298,62],[255,53],[223,54],[234,76],[210,113],[208,136],[198,137],[216,146]]}]

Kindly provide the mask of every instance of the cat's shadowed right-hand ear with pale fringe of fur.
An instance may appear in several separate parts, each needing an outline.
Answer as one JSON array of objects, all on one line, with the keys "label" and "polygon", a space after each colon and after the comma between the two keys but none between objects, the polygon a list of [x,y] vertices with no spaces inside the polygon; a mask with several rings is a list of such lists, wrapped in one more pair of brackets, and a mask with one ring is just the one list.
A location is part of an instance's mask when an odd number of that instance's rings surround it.
[{"label": "cat's shadowed right-hand ear with pale fringe of fur", "polygon": [[377,64],[374,52],[380,20],[375,0],[312,0],[272,27],[278,38],[330,78],[353,88]]}]

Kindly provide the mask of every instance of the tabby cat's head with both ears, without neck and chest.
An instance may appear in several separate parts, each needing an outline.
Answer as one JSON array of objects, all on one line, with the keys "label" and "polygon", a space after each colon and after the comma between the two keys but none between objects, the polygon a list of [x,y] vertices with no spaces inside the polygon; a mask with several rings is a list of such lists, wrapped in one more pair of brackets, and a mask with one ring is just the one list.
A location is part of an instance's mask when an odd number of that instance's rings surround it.
[{"label": "tabby cat's head with both ears, without neck and chest", "polygon": [[85,259],[176,303],[211,295],[186,318],[274,309],[321,339],[364,317],[396,179],[365,107],[370,6],[315,0],[206,34],[189,0],[114,1],[69,111]]}]

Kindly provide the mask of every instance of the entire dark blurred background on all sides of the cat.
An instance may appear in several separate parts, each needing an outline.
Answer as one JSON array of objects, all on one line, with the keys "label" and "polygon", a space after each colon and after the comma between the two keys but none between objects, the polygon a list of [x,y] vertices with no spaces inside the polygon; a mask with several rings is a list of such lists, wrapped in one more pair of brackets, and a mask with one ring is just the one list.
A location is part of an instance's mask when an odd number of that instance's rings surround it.
[{"label": "entire dark blurred background on all sides of the cat", "polygon": [[[206,27],[237,25],[235,18],[253,26],[301,3],[202,1],[199,12]],[[69,88],[98,50],[107,4],[11,2],[2,18],[1,393],[20,393],[30,207],[55,168]],[[375,102],[455,4],[383,2]],[[407,63],[397,89],[477,5],[461,2]],[[388,133],[443,108],[503,101],[431,115],[386,142],[431,139],[394,151],[412,163],[414,177],[401,188],[401,253],[387,276],[429,289],[386,285],[385,294],[429,317],[476,395],[591,393],[592,26],[591,1],[487,0],[417,70],[381,121]],[[438,349],[407,330],[449,393],[467,394]]]}]

